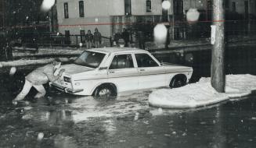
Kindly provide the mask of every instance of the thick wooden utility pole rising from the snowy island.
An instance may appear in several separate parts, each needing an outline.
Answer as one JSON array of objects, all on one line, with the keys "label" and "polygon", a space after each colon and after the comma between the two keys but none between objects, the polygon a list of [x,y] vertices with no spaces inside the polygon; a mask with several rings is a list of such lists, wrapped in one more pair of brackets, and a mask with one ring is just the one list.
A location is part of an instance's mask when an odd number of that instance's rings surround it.
[{"label": "thick wooden utility pole rising from the snowy island", "polygon": [[224,0],[213,0],[215,43],[211,52],[211,86],[219,93],[225,92],[225,11]]}]

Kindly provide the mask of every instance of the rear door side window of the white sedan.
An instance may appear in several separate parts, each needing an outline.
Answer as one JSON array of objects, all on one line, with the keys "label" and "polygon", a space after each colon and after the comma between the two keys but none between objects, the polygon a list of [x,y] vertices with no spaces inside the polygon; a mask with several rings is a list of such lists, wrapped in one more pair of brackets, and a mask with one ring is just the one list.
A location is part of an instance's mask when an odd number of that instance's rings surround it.
[{"label": "rear door side window of the white sedan", "polygon": [[134,68],[132,55],[115,55],[111,62],[110,69],[128,69]]}]

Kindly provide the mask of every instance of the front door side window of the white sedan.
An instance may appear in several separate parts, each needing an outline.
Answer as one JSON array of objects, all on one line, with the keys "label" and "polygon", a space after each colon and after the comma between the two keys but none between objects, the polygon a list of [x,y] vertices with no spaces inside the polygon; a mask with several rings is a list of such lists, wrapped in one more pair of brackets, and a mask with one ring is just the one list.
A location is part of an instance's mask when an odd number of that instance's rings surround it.
[{"label": "front door side window of the white sedan", "polygon": [[157,67],[159,66],[153,58],[148,54],[135,54],[135,58],[138,64],[138,67]]}]

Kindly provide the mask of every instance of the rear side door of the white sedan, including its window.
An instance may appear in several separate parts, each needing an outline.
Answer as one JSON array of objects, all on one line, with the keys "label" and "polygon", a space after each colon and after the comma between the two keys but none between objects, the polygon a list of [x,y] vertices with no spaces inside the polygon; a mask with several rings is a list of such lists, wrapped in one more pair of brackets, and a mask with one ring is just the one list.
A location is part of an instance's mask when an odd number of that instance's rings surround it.
[{"label": "rear side door of the white sedan, including its window", "polygon": [[135,68],[131,54],[114,55],[108,69],[110,83],[117,86],[119,92],[138,88],[138,69]]}]

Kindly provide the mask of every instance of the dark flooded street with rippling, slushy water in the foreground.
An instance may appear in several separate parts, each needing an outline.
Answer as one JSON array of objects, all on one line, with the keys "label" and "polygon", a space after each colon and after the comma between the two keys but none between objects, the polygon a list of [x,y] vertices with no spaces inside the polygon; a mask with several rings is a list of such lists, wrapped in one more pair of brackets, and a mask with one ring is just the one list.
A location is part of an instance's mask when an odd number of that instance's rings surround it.
[{"label": "dark flooded street with rippling, slushy water in the foreground", "polygon": [[45,98],[29,95],[14,106],[10,88],[2,87],[0,147],[256,146],[255,96],[193,110],[166,110],[149,107],[152,90],[111,100],[49,90]]}]

